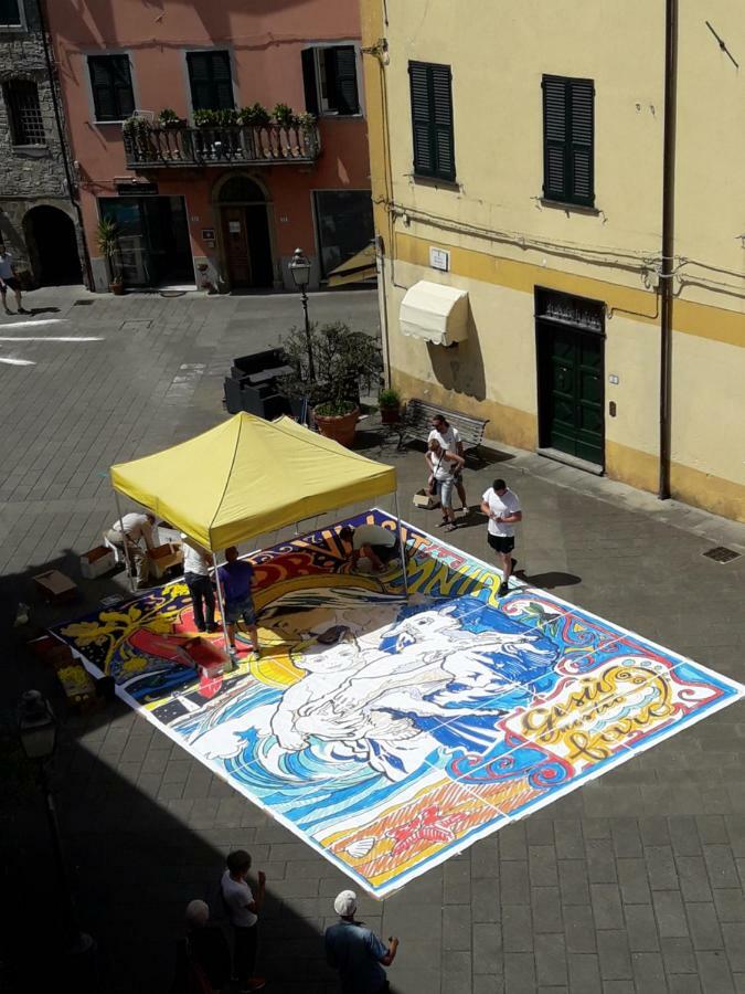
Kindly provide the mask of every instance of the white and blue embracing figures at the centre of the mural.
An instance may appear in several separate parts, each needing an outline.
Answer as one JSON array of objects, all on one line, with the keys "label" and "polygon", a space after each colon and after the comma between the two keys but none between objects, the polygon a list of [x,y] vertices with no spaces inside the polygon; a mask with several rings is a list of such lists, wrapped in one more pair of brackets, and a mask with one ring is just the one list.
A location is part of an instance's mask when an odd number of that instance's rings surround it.
[{"label": "white and blue embracing figures at the centre of the mural", "polygon": [[[394,620],[373,631],[361,631],[348,616],[349,624],[336,626],[340,642],[316,643],[296,659],[305,676],[278,701],[244,717],[213,716],[207,727],[200,722],[192,744],[206,757],[236,755],[249,723],[262,738],[273,737],[263,761],[274,772],[283,755],[319,743],[327,759],[365,759],[389,780],[405,779],[433,749],[427,727],[473,719],[475,706],[482,716],[502,713],[500,697],[524,692],[524,684],[555,656],[540,634],[514,625],[507,632],[470,631],[456,605],[437,610],[435,603],[425,602],[418,613],[419,605],[414,613],[404,609],[400,620],[401,602],[381,604],[377,621],[381,613]],[[471,603],[473,611],[485,610]]]}]

